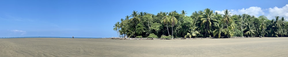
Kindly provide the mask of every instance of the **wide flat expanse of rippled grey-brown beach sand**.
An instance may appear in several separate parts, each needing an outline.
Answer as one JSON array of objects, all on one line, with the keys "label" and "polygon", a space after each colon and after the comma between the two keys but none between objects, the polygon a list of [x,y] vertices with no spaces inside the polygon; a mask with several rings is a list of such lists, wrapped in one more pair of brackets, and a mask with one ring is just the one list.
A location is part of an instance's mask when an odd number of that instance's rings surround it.
[{"label": "wide flat expanse of rippled grey-brown beach sand", "polygon": [[0,39],[0,57],[288,57],[288,38]]}]

